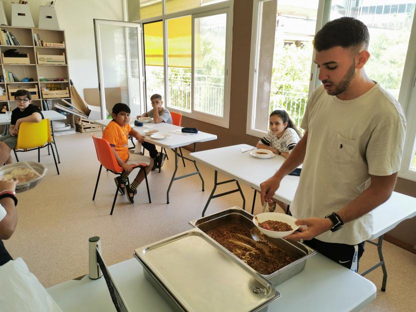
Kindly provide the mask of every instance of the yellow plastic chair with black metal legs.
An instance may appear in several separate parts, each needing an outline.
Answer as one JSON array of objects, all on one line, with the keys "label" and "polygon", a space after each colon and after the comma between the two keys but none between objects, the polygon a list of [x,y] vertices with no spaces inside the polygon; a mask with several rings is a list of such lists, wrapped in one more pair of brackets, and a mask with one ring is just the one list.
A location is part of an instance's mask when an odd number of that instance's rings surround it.
[{"label": "yellow plastic chair with black metal legs", "polygon": [[42,119],[41,122],[23,122],[19,127],[18,143],[14,149],[16,160],[19,161],[16,152],[27,152],[38,150],[38,162],[41,162],[41,148],[49,146],[54,156],[56,171],[59,174],[58,163],[56,162],[55,152],[52,143],[51,124],[49,119]]}]

